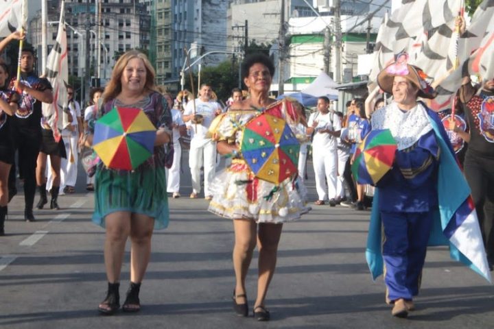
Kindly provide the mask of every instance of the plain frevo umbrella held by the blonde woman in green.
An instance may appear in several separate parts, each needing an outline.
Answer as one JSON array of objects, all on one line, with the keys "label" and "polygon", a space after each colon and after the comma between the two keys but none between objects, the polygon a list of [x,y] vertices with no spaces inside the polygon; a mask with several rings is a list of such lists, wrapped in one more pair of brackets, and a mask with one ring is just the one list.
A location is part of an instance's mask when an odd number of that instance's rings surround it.
[{"label": "plain frevo umbrella held by the blonde woman in green", "polygon": [[95,124],[93,149],[108,168],[132,170],[153,154],[156,128],[139,108],[114,107]]}]

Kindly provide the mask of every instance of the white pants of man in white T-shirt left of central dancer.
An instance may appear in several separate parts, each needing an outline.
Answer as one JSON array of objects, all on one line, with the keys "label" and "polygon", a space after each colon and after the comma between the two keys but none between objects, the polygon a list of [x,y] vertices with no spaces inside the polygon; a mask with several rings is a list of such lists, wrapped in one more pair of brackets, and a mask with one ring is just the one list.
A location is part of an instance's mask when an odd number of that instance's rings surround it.
[{"label": "white pants of man in white T-shirt left of central dancer", "polygon": [[209,185],[213,181],[216,165],[216,143],[208,141],[200,147],[193,145],[189,150],[189,167],[192,176],[192,191],[200,193],[200,168],[204,167],[204,195],[211,195]]}]

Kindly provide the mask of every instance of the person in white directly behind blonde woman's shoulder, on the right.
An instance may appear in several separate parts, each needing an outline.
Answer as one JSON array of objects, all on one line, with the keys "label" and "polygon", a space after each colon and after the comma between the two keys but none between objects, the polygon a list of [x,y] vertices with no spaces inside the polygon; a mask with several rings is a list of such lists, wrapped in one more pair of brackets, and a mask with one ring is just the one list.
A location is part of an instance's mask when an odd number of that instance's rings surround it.
[{"label": "person in white directly behind blonde woman's shoulder, on the right", "polygon": [[[171,99],[170,102],[173,105]],[[172,108],[172,106],[170,106],[170,108]],[[187,128],[182,119],[182,112],[180,112],[178,108],[172,108],[170,112],[172,112],[174,161],[172,167],[165,170],[167,171],[167,193],[173,193],[172,197],[176,199],[177,197],[180,197],[180,160],[182,159],[182,147],[180,146],[180,141],[178,141],[178,139],[180,136],[183,136],[183,134],[186,134]]]}]

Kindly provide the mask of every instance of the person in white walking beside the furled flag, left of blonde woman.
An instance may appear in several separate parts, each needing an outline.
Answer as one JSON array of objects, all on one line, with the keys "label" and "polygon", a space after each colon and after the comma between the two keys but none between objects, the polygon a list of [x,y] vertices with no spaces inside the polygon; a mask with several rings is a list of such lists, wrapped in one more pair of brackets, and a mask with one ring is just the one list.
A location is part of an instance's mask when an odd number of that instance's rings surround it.
[{"label": "person in white walking beside the furled flag, left of blonde woman", "polygon": [[[60,195],[75,192],[79,158],[78,145],[83,132],[80,105],[73,98],[72,86],[67,86],[67,97],[72,121],[61,132],[67,158],[62,158],[60,161]],[[51,183],[51,170],[47,170],[47,191],[51,190]]]}]

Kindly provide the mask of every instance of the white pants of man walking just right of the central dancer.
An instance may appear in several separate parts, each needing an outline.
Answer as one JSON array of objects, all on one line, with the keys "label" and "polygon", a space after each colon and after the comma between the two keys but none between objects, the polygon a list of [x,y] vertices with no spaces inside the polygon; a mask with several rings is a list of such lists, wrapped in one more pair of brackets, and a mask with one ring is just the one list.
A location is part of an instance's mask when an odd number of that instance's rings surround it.
[{"label": "white pants of man walking just right of the central dancer", "polygon": [[[316,175],[316,191],[320,200],[336,199],[336,165],[338,154],[336,149],[313,149],[312,162]],[[325,182],[326,179],[326,182]]]}]

